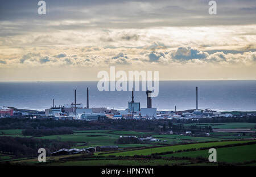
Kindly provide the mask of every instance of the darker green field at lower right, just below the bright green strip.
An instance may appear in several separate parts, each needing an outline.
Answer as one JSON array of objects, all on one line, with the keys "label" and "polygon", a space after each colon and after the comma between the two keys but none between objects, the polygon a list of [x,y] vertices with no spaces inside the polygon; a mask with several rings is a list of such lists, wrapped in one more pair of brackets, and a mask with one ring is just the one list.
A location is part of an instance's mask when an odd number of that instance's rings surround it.
[{"label": "darker green field at lower right, just below the bright green strip", "polygon": [[[188,151],[162,155],[162,157],[203,157],[208,159],[208,150]],[[238,163],[256,160],[256,144],[217,148],[217,162]]]}]

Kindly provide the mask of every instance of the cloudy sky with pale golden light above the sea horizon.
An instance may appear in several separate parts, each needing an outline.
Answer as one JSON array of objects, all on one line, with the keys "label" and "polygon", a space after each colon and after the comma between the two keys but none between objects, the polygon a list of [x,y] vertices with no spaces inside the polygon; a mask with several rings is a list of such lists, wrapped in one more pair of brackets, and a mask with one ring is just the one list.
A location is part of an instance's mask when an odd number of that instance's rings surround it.
[{"label": "cloudy sky with pale golden light above the sea horizon", "polygon": [[98,81],[99,71],[160,80],[256,79],[256,1],[0,2],[0,82]]}]

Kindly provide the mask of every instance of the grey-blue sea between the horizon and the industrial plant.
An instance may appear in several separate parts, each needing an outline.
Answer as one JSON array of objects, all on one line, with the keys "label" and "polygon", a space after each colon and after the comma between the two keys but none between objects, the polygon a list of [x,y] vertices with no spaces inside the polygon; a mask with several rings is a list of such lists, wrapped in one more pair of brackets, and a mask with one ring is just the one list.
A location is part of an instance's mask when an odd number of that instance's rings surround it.
[{"label": "grey-blue sea between the horizon and the industrial plant", "polygon": [[[97,83],[88,82],[0,82],[0,106],[44,110],[64,106],[74,101],[86,106],[89,88],[89,108],[126,109],[131,91],[99,91]],[[256,81],[159,81],[159,94],[152,98],[158,110],[195,109],[196,86],[199,109],[215,111],[256,111]],[[134,91],[134,101],[147,106],[146,91]]]}]

